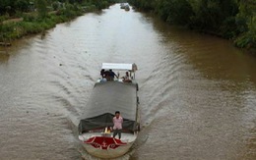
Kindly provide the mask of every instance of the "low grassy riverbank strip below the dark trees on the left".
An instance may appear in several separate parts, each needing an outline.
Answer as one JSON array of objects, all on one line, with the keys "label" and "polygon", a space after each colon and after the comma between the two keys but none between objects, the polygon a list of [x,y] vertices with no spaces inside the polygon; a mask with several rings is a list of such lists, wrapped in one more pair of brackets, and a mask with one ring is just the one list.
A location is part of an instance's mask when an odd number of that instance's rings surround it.
[{"label": "low grassy riverbank strip below the dark trees on the left", "polygon": [[11,43],[12,40],[34,33],[41,33],[44,36],[45,30],[53,28],[57,24],[71,21],[88,12],[99,11],[107,8],[111,4],[110,1],[86,6],[66,4],[65,7],[56,11],[47,12],[43,17],[39,12],[30,12],[22,13],[19,17],[13,19],[2,18],[2,21],[0,21],[0,42],[3,44]]}]

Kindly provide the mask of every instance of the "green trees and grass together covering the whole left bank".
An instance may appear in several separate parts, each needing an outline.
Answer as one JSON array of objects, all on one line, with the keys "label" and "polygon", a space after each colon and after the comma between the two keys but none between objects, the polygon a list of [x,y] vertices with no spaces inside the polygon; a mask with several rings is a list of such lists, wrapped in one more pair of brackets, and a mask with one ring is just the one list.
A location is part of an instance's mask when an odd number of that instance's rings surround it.
[{"label": "green trees and grass together covering the whole left bank", "polygon": [[114,0],[0,0],[0,41],[44,32]]}]

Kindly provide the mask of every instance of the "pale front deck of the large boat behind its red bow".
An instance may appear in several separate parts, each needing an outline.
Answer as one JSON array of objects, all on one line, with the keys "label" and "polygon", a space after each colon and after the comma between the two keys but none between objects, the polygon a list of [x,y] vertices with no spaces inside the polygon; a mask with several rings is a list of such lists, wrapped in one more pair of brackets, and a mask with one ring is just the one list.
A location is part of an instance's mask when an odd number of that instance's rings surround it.
[{"label": "pale front deck of the large boat behind its red bow", "polygon": [[[101,133],[83,133],[79,135],[79,139],[82,141],[86,141],[87,139],[94,136],[101,136]],[[111,133],[111,137],[112,137],[112,133]],[[118,135],[116,137],[118,137]],[[122,133],[120,140],[122,140],[122,142],[128,143],[128,142],[135,141],[136,137],[137,137],[136,133]]]}]

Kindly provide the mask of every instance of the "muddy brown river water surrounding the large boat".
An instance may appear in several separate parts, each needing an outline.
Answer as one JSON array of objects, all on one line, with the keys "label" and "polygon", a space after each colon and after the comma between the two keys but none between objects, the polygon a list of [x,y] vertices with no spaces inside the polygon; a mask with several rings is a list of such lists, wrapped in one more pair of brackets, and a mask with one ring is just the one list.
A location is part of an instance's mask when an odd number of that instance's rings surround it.
[{"label": "muddy brown river water surrounding the large boat", "polygon": [[139,67],[143,129],[132,156],[120,159],[256,159],[256,58],[229,41],[117,4],[8,51],[0,55],[1,160],[94,159],[76,127],[102,62]]}]

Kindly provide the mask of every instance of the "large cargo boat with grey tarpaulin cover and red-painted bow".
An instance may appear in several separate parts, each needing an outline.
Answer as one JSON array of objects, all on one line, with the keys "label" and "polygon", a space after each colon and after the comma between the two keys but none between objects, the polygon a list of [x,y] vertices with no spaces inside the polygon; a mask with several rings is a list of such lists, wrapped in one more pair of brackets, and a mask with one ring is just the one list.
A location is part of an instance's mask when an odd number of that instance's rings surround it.
[{"label": "large cargo boat with grey tarpaulin cover and red-painted bow", "polygon": [[[140,131],[138,83],[135,64],[102,63],[104,71],[128,71],[131,80],[96,81],[87,110],[78,126],[79,139],[87,152],[98,158],[117,158],[129,151]],[[119,74],[118,74],[119,75]],[[121,138],[113,137],[113,117],[123,118]]]}]

